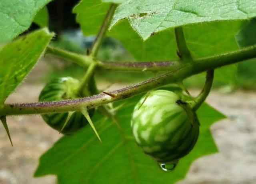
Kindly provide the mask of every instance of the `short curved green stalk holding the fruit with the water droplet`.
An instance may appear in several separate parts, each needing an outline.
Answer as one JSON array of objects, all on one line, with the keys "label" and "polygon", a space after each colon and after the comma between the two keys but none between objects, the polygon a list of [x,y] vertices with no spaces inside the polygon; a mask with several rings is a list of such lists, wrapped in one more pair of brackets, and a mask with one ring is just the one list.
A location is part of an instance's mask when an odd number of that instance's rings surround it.
[{"label": "short curved green stalk holding the fruit with the water droplet", "polygon": [[201,104],[204,102],[206,97],[208,96],[211,88],[212,88],[212,82],[214,77],[214,70],[209,70],[206,72],[206,81],[204,84],[204,88],[200,92],[200,94],[192,101],[191,103],[191,109],[196,112],[196,110],[201,106]]}]

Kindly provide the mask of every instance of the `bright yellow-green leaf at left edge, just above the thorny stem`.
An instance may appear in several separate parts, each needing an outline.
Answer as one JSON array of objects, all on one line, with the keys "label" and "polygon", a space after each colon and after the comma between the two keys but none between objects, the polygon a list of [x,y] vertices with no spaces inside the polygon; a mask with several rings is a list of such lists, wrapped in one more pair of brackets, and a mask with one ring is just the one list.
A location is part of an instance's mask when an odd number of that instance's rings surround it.
[{"label": "bright yellow-green leaf at left edge, just above the thorny stem", "polygon": [[0,108],[10,93],[34,67],[54,36],[41,29],[10,42],[0,50]]}]

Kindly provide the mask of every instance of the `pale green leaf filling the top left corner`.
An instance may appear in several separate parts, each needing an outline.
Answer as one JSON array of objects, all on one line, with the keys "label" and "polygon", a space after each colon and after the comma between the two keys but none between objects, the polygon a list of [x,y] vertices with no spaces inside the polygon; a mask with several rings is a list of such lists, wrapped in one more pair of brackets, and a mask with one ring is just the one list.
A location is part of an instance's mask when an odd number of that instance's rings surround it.
[{"label": "pale green leaf filling the top left corner", "polygon": [[0,44],[27,30],[36,13],[52,0],[0,0]]}]

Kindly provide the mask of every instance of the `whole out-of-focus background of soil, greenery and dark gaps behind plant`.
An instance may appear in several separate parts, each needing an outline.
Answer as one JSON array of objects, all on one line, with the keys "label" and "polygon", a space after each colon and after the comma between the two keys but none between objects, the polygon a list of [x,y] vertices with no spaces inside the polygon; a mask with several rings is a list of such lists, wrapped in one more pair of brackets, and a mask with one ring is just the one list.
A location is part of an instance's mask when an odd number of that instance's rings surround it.
[{"label": "whole out-of-focus background of soil, greenery and dark gaps behind plant", "polygon": [[[49,28],[56,32],[51,44],[85,54],[95,36],[83,36],[76,23],[72,8],[78,2],[55,0],[47,5]],[[37,28],[38,25],[33,23],[27,32]],[[251,20],[237,32],[236,41],[240,48],[256,44],[256,20]],[[114,38],[104,40],[98,58],[104,61],[135,61],[132,54]],[[179,184],[256,184],[256,59],[241,62],[236,67],[237,73],[232,81],[214,81],[214,90],[207,99],[210,105],[228,117],[211,128],[220,152],[196,160]],[[47,54],[7,102],[36,102],[46,82],[61,76],[80,79],[83,74],[84,69],[80,66]],[[105,90],[122,88],[154,75],[97,71],[96,80],[98,88]],[[184,83],[191,94],[196,95],[204,84],[204,74],[186,79]],[[39,115],[8,118],[12,121],[9,129],[14,147],[10,146],[6,132],[0,128],[0,184],[54,184],[55,176],[32,176],[40,155],[61,135],[47,126]]]}]

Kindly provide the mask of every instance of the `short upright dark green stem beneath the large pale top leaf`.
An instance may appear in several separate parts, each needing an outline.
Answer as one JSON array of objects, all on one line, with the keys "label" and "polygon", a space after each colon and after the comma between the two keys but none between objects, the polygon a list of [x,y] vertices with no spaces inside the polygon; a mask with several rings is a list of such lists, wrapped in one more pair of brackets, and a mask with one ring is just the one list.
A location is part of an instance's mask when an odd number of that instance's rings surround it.
[{"label": "short upright dark green stem beneath the large pale top leaf", "polygon": [[184,62],[186,61],[192,61],[192,56],[190,54],[190,51],[188,49],[188,46],[186,44],[184,32],[181,26],[174,29],[175,32],[175,38],[176,38],[176,44],[178,48],[178,56],[180,59]]}]

